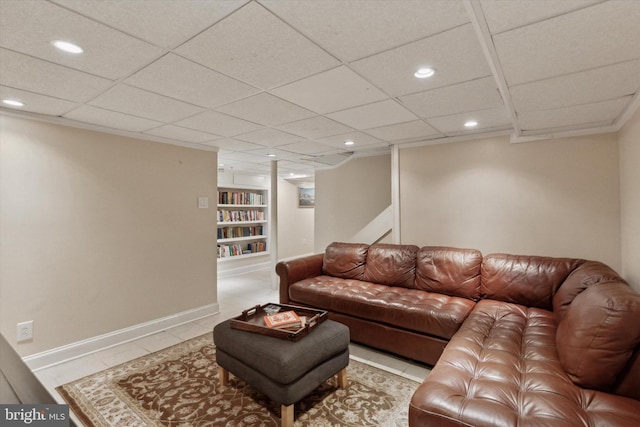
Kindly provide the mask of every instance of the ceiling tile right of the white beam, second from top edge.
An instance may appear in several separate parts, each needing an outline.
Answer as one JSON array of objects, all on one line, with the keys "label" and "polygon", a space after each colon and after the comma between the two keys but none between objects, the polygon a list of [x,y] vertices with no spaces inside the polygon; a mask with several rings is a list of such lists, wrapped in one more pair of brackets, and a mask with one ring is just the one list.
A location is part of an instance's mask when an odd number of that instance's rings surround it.
[{"label": "ceiling tile right of the white beam, second from top edge", "polygon": [[640,1],[605,2],[494,36],[507,83],[640,58],[639,16]]}]

